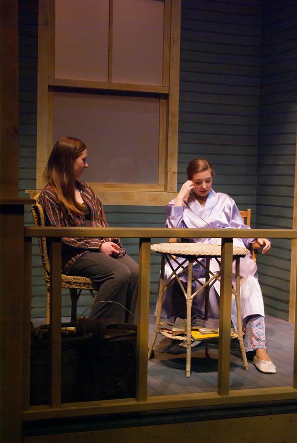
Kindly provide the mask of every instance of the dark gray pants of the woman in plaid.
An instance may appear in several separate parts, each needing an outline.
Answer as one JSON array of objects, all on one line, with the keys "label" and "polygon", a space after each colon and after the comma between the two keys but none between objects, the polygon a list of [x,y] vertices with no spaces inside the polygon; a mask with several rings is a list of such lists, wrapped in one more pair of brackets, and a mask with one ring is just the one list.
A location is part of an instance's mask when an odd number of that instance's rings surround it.
[{"label": "dark gray pants of the woman in plaid", "polygon": [[136,323],[133,314],[138,294],[138,264],[128,254],[113,258],[99,252],[83,253],[68,275],[88,277],[98,287],[89,318],[100,318],[105,323]]}]

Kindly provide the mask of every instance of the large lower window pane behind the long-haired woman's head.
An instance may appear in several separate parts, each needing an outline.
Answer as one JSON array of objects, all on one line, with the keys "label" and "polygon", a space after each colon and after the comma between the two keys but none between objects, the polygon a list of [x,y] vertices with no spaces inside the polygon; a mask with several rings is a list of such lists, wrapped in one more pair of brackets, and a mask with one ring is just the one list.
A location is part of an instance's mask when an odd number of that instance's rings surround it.
[{"label": "large lower window pane behind the long-haired woman's head", "polygon": [[82,180],[158,183],[157,98],[55,93],[54,142],[66,135],[87,146]]}]

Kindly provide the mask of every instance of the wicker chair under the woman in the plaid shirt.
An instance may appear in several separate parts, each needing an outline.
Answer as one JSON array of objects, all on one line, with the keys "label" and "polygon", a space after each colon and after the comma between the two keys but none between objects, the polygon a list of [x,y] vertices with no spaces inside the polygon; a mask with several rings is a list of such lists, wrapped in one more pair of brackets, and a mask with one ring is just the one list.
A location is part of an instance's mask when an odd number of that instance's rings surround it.
[{"label": "wicker chair under the woman in the plaid shirt", "polygon": [[[33,221],[35,226],[45,226],[43,208],[38,203],[31,206],[33,215]],[[46,237],[38,237],[38,245],[42,258],[43,274],[46,286],[46,316],[45,322],[49,323],[49,305],[50,305],[50,262],[48,258],[48,248],[46,243]],[[74,277],[66,274],[62,274],[62,287],[69,288],[71,298],[71,322],[76,321],[77,300],[83,289],[87,289],[91,292],[93,301],[95,301],[95,294],[97,292],[96,287],[93,285],[92,280],[87,277]]]}]

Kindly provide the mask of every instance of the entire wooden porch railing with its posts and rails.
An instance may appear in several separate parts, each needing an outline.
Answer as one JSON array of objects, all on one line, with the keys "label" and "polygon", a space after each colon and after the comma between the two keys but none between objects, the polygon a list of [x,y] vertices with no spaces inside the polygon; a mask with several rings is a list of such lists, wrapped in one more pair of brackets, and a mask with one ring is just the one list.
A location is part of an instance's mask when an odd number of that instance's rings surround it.
[{"label": "entire wooden porch railing with its posts and rails", "polygon": [[[49,405],[30,407],[31,343],[31,260],[32,238],[49,237],[51,254],[50,302],[50,401]],[[121,237],[139,238],[139,311],[137,328],[137,378],[135,399],[100,400],[84,403],[61,403],[61,238]],[[221,303],[217,392],[168,396],[147,395],[147,349],[150,292],[151,239],[169,237],[222,238]],[[233,238],[297,238],[291,229],[165,229],[165,228],[93,228],[93,227],[25,227],[25,310],[24,310],[24,381],[23,419],[46,419],[75,415],[106,414],[127,411],[160,410],[200,405],[233,404],[256,401],[297,399],[297,328],[293,385],[229,392],[230,323]],[[295,303],[295,306],[297,304]]]}]

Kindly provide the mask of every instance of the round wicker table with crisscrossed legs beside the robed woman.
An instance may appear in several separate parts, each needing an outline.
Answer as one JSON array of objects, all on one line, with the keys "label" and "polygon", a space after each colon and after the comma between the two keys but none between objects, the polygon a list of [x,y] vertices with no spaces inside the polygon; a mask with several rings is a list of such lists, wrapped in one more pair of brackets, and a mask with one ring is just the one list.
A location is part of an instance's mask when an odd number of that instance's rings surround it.
[{"label": "round wicker table with crisscrossed legs beside the robed woman", "polygon": [[[211,244],[201,244],[201,243],[159,243],[151,246],[151,250],[156,253],[162,254],[161,260],[161,274],[160,274],[160,283],[159,283],[159,296],[158,296],[158,308],[157,308],[157,316],[156,323],[154,329],[153,339],[148,351],[148,358],[151,357],[152,350],[155,345],[155,341],[157,335],[159,333],[163,334],[168,338],[175,338],[179,340],[187,341],[187,359],[186,359],[186,376],[190,377],[191,375],[191,309],[193,298],[202,290],[206,289],[205,293],[205,319],[208,318],[208,297],[209,297],[209,288],[211,285],[215,283],[216,280],[220,281],[221,271],[219,270],[216,274],[212,273],[209,270],[210,258],[214,258],[218,261],[221,257],[221,246],[220,245],[211,245]],[[240,277],[239,277],[239,258],[244,257],[249,254],[250,251],[246,248],[240,248],[238,246],[233,246],[233,261],[235,260],[235,270],[236,270],[236,285],[235,288],[232,287],[232,293],[235,295],[236,302],[236,310],[237,310],[237,328],[238,333],[236,336],[239,340],[241,356],[244,364],[244,368],[248,369],[247,358],[244,350],[243,344],[243,331],[242,331],[242,320],[241,320],[241,309],[240,309]],[[184,260],[179,263],[175,257],[182,257]],[[196,279],[193,275],[193,264],[198,261],[199,258],[206,259],[206,265],[200,262],[200,265],[205,269],[205,283],[202,284]],[[177,267],[171,265],[170,260],[175,261]],[[165,261],[169,264],[171,268],[171,274],[166,281],[164,281],[165,274]],[[179,275],[184,272],[188,273],[188,284],[187,290],[185,290],[182,282],[179,279]],[[186,337],[185,336],[174,336],[168,331],[162,330],[160,319],[161,319],[161,311],[162,311],[162,303],[163,303],[163,294],[168,285],[176,279],[178,284],[183,291],[183,294],[186,298],[187,305],[187,319],[186,319]],[[198,282],[200,287],[192,293],[192,281]],[[211,337],[205,338],[205,353],[208,355],[208,342],[207,340],[211,339]],[[199,339],[200,340],[200,339]]]}]

